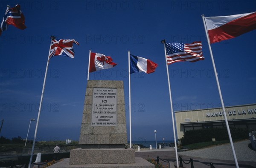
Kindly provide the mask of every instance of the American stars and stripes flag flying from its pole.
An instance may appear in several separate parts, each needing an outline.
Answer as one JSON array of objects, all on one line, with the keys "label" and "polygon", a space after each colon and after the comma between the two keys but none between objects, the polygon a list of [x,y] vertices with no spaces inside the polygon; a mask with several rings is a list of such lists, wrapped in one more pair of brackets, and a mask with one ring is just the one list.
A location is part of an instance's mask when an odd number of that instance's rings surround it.
[{"label": "American stars and stripes flag flying from its pole", "polygon": [[191,44],[166,43],[166,54],[168,64],[204,60],[201,41],[195,41]]}]

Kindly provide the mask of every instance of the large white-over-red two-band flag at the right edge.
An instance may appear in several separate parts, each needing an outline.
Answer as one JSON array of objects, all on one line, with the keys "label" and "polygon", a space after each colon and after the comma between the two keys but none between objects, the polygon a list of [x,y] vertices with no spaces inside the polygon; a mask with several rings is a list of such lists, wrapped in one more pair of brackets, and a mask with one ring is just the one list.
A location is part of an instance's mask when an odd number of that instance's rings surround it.
[{"label": "large white-over-red two-band flag at the right edge", "polygon": [[230,16],[205,17],[210,43],[238,37],[256,29],[256,12]]}]

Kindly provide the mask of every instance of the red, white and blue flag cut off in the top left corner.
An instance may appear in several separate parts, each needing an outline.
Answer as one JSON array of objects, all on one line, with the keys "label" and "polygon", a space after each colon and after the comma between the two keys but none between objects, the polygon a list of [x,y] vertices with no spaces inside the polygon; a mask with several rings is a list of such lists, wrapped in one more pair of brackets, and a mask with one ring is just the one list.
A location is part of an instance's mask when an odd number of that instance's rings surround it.
[{"label": "red, white and blue flag cut off in the top left corner", "polygon": [[25,29],[25,17],[23,13],[20,11],[20,5],[17,4],[15,7],[10,8],[6,11],[1,27],[0,27],[0,35],[2,34],[2,31],[5,31],[7,29],[8,25],[13,25],[21,30]]}]

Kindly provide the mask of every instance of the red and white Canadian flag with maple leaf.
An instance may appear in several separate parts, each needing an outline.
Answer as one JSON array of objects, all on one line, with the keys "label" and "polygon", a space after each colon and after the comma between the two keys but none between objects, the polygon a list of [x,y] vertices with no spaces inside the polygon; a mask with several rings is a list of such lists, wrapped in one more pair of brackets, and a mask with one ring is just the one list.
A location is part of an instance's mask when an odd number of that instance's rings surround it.
[{"label": "red and white Canadian flag with maple leaf", "polygon": [[99,71],[102,69],[113,68],[116,63],[112,62],[112,58],[104,54],[91,53],[90,54],[90,70],[89,72]]}]

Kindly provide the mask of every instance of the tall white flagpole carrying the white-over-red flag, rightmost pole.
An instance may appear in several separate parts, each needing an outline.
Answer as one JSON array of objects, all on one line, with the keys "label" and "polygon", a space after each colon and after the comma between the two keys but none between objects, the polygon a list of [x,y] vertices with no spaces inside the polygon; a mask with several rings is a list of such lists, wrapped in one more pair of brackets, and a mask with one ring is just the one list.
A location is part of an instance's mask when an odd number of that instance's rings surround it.
[{"label": "tall white flagpole carrying the white-over-red flag, rightmost pole", "polygon": [[211,58],[212,58],[212,65],[213,65],[215,78],[216,78],[216,82],[217,82],[217,86],[218,86],[218,92],[219,92],[220,99],[221,99],[221,106],[222,106],[223,115],[224,115],[225,122],[226,122],[227,133],[228,133],[228,137],[230,139],[230,145],[231,145],[231,148],[232,148],[233,157],[234,157],[235,162],[236,162],[236,168],[239,168],[239,165],[238,165],[238,162],[237,162],[237,159],[236,159],[236,152],[235,152],[235,148],[234,148],[234,145],[233,145],[233,140],[232,140],[232,137],[231,137],[231,134],[230,134],[230,128],[229,128],[229,125],[228,125],[228,122],[227,122],[227,115],[226,115],[226,111],[225,111],[225,107],[224,107],[224,103],[223,103],[223,99],[222,99],[222,95],[221,95],[220,84],[218,82],[218,74],[217,74],[217,71],[216,71],[216,68],[215,68],[215,63],[214,63],[214,59],[213,59],[213,55],[212,55],[211,43],[210,43],[210,40],[209,40],[209,34],[208,34],[208,31],[207,31],[207,27],[206,27],[206,23],[205,23],[205,19],[204,19],[204,14],[202,15],[202,19],[203,19],[203,22],[204,22],[205,34],[206,34],[206,37],[207,37],[209,51],[210,51],[210,55],[211,55]]}]

